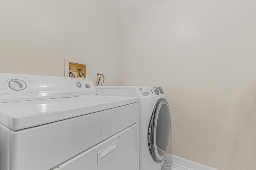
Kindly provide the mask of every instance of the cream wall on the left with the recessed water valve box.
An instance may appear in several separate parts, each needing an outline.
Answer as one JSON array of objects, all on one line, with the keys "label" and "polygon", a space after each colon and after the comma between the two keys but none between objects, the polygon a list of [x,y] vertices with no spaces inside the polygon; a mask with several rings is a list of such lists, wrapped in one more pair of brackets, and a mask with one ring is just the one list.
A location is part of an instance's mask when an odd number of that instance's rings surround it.
[{"label": "cream wall on the left with the recessed water valve box", "polygon": [[118,85],[118,21],[90,0],[0,0],[0,72],[64,76],[64,58]]}]

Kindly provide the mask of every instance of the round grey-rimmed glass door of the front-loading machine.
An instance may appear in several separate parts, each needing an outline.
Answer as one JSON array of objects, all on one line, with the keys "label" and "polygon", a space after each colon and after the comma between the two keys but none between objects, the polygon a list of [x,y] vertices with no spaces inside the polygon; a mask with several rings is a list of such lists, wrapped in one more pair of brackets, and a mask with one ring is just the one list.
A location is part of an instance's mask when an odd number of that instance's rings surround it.
[{"label": "round grey-rimmed glass door of the front-loading machine", "polygon": [[171,128],[170,108],[164,98],[157,100],[148,127],[148,145],[150,154],[156,163],[164,160]]}]

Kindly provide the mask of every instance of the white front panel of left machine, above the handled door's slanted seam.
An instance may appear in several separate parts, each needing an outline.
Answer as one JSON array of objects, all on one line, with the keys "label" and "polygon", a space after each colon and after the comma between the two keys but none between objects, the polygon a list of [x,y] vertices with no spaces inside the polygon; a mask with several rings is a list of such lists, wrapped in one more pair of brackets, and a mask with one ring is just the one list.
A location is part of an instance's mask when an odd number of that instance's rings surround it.
[{"label": "white front panel of left machine, above the handled door's slanted seam", "polygon": [[138,103],[10,131],[11,170],[50,170],[137,123]]}]

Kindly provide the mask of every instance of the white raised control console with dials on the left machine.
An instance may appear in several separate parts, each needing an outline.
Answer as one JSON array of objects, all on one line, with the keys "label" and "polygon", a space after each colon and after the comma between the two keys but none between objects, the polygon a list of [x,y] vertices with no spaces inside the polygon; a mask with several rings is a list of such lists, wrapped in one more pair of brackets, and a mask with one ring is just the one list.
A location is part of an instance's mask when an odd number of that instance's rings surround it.
[{"label": "white raised control console with dials on the left machine", "polygon": [[88,78],[0,73],[0,103],[96,94]]}]

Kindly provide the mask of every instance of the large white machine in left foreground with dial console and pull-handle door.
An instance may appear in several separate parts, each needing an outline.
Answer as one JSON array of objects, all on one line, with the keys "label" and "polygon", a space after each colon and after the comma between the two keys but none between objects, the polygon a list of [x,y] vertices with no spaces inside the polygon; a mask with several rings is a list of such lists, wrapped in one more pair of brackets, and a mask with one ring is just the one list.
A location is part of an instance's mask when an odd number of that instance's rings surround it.
[{"label": "large white machine in left foreground with dial console and pull-handle door", "polygon": [[0,73],[0,170],[138,170],[138,98]]}]

